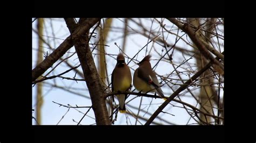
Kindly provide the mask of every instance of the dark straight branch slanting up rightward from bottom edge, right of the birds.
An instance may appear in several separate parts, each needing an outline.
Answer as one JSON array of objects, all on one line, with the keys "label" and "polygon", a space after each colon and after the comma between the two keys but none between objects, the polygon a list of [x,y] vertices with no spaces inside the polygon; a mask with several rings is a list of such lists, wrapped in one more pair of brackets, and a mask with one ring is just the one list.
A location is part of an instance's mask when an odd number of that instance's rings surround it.
[{"label": "dark straight branch slanting up rightward from bottom edge, right of the birds", "polygon": [[[218,59],[218,57],[216,59]],[[174,97],[176,97],[181,91],[185,90],[188,87],[188,84],[196,80],[197,77],[203,74],[204,71],[206,71],[208,68],[211,67],[211,65],[212,63],[209,62],[204,68],[202,68],[196,74],[194,74],[190,80],[187,80],[184,85],[181,85],[181,87],[179,87],[169,98],[166,99],[166,101],[162,105],[159,106],[159,108],[153,113],[153,115],[149,118],[149,120],[147,120],[145,125],[150,125],[154,120],[154,118],[156,118],[158,114],[165,108],[165,106],[169,104],[171,101],[173,101]]]}]

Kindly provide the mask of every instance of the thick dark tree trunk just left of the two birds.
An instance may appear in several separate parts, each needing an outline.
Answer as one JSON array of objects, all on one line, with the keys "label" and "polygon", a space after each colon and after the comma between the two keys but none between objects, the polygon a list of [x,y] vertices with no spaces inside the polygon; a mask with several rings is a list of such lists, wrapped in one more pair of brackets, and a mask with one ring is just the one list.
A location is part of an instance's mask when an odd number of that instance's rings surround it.
[{"label": "thick dark tree trunk just left of the two birds", "polygon": [[[90,18],[88,19],[91,20]],[[83,23],[81,25],[86,25],[84,23],[88,22],[88,19],[82,20]],[[71,24],[75,23],[72,23],[71,20],[71,18],[65,18],[66,24],[70,24],[68,27],[74,27]],[[74,33],[80,33],[80,31],[84,29],[85,28],[83,28],[83,26],[79,26],[74,31]],[[96,124],[111,125],[104,99],[105,93],[103,91],[102,84],[100,83],[98,71],[96,69],[95,62],[93,61],[92,53],[89,47],[89,30],[90,29],[83,31],[79,37],[75,38],[73,38],[72,33],[72,42],[75,46],[78,59],[83,69],[84,78],[92,101],[92,109],[95,113]],[[71,31],[72,30],[70,29],[70,32]]]}]

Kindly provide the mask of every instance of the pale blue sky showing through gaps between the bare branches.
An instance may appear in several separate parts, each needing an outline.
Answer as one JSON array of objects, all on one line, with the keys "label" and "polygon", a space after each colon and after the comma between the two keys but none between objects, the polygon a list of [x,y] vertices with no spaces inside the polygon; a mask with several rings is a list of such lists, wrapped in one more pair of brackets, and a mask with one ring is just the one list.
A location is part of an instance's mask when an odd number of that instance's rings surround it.
[{"label": "pale blue sky showing through gaps between the bare branches", "polygon": [[[135,19],[138,21],[138,19]],[[161,34],[160,37],[163,37],[161,30],[159,28],[159,24],[157,24],[156,20],[154,20],[154,24],[151,27],[152,24],[152,19],[140,19],[142,24],[145,25],[145,27],[147,29],[151,29],[152,31],[156,31],[157,34]],[[161,20],[160,18],[158,18],[158,20]],[[32,23],[32,28],[34,28],[36,30],[36,24],[37,22],[33,22]],[[68,37],[70,35],[68,28],[65,25],[64,19],[61,18],[55,18],[55,19],[45,19],[44,22],[44,39],[49,41],[49,44],[52,46],[52,48],[57,48],[59,44],[61,44],[63,42],[63,40]],[[164,20],[164,24],[166,24],[166,28],[171,28],[171,23],[168,20]],[[134,31],[140,30],[140,28],[134,24],[133,22],[129,22],[129,26],[132,27],[132,29]],[[122,46],[122,35],[123,35],[123,30],[122,28],[124,27],[124,19],[123,18],[116,18],[113,19],[112,22],[112,29],[108,35],[108,38],[106,39],[106,45],[109,45],[109,47],[105,47],[105,52],[107,54],[114,54],[113,57],[116,58],[115,55],[117,55],[119,53],[119,49],[116,45],[114,45],[114,42],[117,43],[117,45]],[[129,27],[129,31],[133,32],[134,31]],[[92,31],[92,29],[91,29]],[[159,32],[157,32],[159,31]],[[177,32],[177,30],[173,30],[172,32]],[[184,33],[179,33],[179,35],[182,35]],[[164,38],[167,38],[167,42],[169,44],[174,44],[174,41],[176,39],[176,36],[172,35],[172,34],[168,34],[167,32],[164,33]],[[186,37],[183,37],[184,39],[186,39]],[[93,39],[91,40],[91,43],[96,41],[97,39]],[[141,49],[143,46],[145,46],[147,44],[148,38],[144,37],[143,35],[139,34],[139,33],[134,33],[134,34],[129,34],[127,37],[127,41],[126,41],[126,48],[125,48],[125,53],[127,55],[129,55],[131,58],[139,51],[139,49]],[[32,68],[35,68],[36,65],[36,55],[37,55],[37,35],[35,34],[35,32],[32,31]],[[222,41],[223,43],[224,41]],[[177,43],[177,46],[180,47],[186,47],[186,49],[190,49],[192,50],[192,47],[188,46],[184,41],[180,40]],[[149,53],[149,49],[152,48],[151,52]],[[144,58],[145,55],[147,54],[151,54],[152,55],[152,60],[151,60],[151,65],[152,67],[157,63],[157,60],[159,59],[159,56],[157,55],[156,51],[161,53],[163,47],[156,44],[155,42],[151,42],[148,46],[147,46],[147,53],[146,53],[146,48],[143,49],[142,52],[140,52],[138,54],[138,56],[136,57],[136,59],[138,61],[142,60]],[[47,45],[44,44],[44,52],[46,53],[46,51],[48,52],[48,54],[50,54],[52,52],[51,49],[48,48]],[[68,53],[63,55],[63,59],[70,56],[73,52],[75,52],[75,48],[72,47]],[[222,51],[223,52],[223,49]],[[93,51],[94,54],[97,54],[98,51],[95,50]],[[94,55],[93,55],[94,56]],[[98,68],[98,58],[97,56],[95,57],[95,63],[96,63],[96,67]],[[188,59],[190,57],[185,55],[185,59]],[[156,60],[157,59],[157,60]],[[77,59],[77,55],[73,55],[71,56],[71,58],[68,60],[69,63],[72,64],[72,66],[77,66],[79,64],[79,60]],[[126,59],[127,61],[127,59]],[[173,53],[173,62],[175,64],[177,64],[177,66],[182,63],[184,61],[184,57],[180,52],[176,52],[174,51]],[[55,67],[57,65],[57,63],[59,63],[60,60],[58,60],[53,67]],[[109,81],[111,81],[111,73],[112,70],[114,68],[114,66],[116,65],[116,60],[113,59],[111,56],[107,55],[106,56],[106,62],[107,62],[107,73],[108,73],[108,77],[109,77]],[[195,63],[196,61],[194,59],[191,59],[188,61],[190,63],[190,65],[192,66],[196,66]],[[136,63],[131,62],[129,64],[130,68],[131,68],[131,73],[133,75],[134,70],[138,67],[136,65]],[[177,67],[176,66],[176,67]],[[185,69],[183,69],[185,68]],[[184,64],[183,66],[181,66],[180,68],[178,68],[179,71],[186,71],[187,65]],[[62,73],[65,70],[70,69],[69,67],[66,66],[66,64],[60,63],[60,65],[54,70],[54,73],[49,74],[49,76],[52,75],[57,75]],[[78,68],[80,71],[82,71],[81,67]],[[196,69],[196,67],[194,67],[194,69]],[[173,67],[171,66],[170,63],[168,62],[164,62],[164,61],[160,61],[159,65],[156,68],[156,73],[159,75],[166,75],[169,74],[173,71]],[[43,75],[45,75],[46,73],[48,73],[50,71],[50,69],[48,69]],[[66,73],[65,77],[73,77],[75,75],[75,72],[70,71],[69,73]],[[193,74],[191,74],[192,76]],[[172,76],[171,76],[172,77]],[[188,76],[182,75],[181,76],[184,80],[188,79]],[[76,78],[82,78],[79,77],[79,75],[76,76]],[[172,78],[178,78],[177,76],[173,76]],[[158,77],[159,81],[160,78]],[[175,81],[173,81],[175,82]],[[74,91],[77,94],[72,94],[71,92],[62,90],[60,88],[52,88],[52,85],[58,85],[59,87],[64,87],[65,90],[70,90],[70,91]],[[223,84],[224,85],[224,84]],[[178,89],[179,85],[173,85],[173,89]],[[36,88],[32,87],[32,109],[35,109],[36,106]],[[194,89],[195,87],[190,87],[190,89]],[[134,87],[132,87],[132,90],[134,89]],[[168,88],[166,85],[163,86],[163,91],[165,96],[170,96],[173,91],[170,90],[170,88]],[[138,92],[136,90],[136,92]],[[193,93],[194,94],[198,94],[199,90],[194,90]],[[221,91],[222,92],[222,91]],[[183,92],[181,92],[182,94]],[[79,95],[78,95],[79,94]],[[78,81],[78,83],[76,81],[71,81],[71,80],[63,80],[62,78],[55,78],[54,80],[46,80],[44,83],[44,87],[43,87],[43,95],[44,95],[44,103],[43,103],[43,108],[42,108],[42,124],[43,125],[76,125],[77,123],[75,121],[79,121],[82,117],[83,117],[83,113],[85,113],[88,109],[85,108],[79,108],[79,109],[69,109],[65,108],[63,106],[60,106],[53,103],[57,102],[63,105],[67,105],[70,104],[72,106],[91,106],[91,101],[90,101],[90,96],[89,96],[89,92],[87,90],[86,87],[86,83],[84,81]],[[130,99],[132,99],[133,97],[136,97],[134,95],[131,95],[127,100],[129,101]],[[132,106],[139,106],[140,104],[140,99],[142,97],[137,97],[134,98],[131,102],[129,102],[129,105]],[[181,100],[192,104],[192,105],[196,105],[196,101],[191,97],[191,95],[189,94],[185,94],[185,96],[181,97]],[[116,102],[118,103],[117,99]],[[149,106],[149,104],[151,103],[151,106]],[[157,110],[158,106],[161,105],[161,103],[163,103],[163,99],[152,99],[152,98],[147,98],[147,97],[143,97],[143,101],[142,101],[142,109],[145,109],[150,112],[153,113],[154,111]],[[172,104],[172,105],[171,105]],[[188,119],[190,118],[190,116],[188,116],[187,112],[183,109],[183,108],[179,108],[177,106],[182,106],[181,104],[178,104],[176,102],[171,102],[171,104],[167,105],[166,108],[163,110],[165,112],[169,112],[172,115],[169,115],[167,113],[160,113],[159,117],[163,117],[165,120],[170,121],[173,124],[178,124],[178,125],[186,125]],[[174,106],[173,106],[174,105]],[[199,106],[197,106],[199,108]],[[134,110],[133,108],[130,108],[129,106],[126,105],[127,110],[131,110],[134,113],[137,114],[137,110]],[[83,113],[80,113],[83,112]],[[66,113],[68,111],[68,113]],[[59,120],[62,118],[62,116],[65,115],[65,117],[59,122]],[[91,109],[88,113],[88,116],[86,116],[81,124],[82,125],[91,125],[91,124],[95,124],[95,119],[94,119],[94,113],[93,110]],[[140,116],[144,116],[144,113],[141,112],[139,114]],[[36,111],[32,113],[32,116],[36,117]],[[150,116],[145,115],[145,118],[149,118]],[[75,121],[73,121],[75,120]],[[135,118],[126,115],[126,114],[121,114],[118,113],[118,118],[117,121],[115,122],[114,125],[130,125],[130,124],[134,124],[136,121]],[[144,124],[145,121],[144,120],[139,120],[140,123]],[[161,124],[166,124],[164,121],[155,119],[155,121],[157,121],[158,123]],[[58,123],[59,122],[59,123]],[[140,125],[140,123],[137,123],[138,125]],[[192,123],[196,123],[196,121],[194,121],[193,119],[191,119],[189,121],[189,124]],[[35,125],[35,121],[32,120],[32,124]]]}]

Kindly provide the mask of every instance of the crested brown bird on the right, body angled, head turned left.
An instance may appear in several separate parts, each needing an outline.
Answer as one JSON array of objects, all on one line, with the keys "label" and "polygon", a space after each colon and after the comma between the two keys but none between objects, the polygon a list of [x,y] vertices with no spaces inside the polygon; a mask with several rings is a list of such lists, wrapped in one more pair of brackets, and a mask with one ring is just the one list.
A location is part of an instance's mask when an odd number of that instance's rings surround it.
[{"label": "crested brown bird on the right, body angled, head turned left", "polygon": [[139,62],[139,67],[134,71],[133,85],[138,91],[157,92],[160,97],[164,98],[157,76],[151,68],[150,58],[151,55],[147,55]]}]

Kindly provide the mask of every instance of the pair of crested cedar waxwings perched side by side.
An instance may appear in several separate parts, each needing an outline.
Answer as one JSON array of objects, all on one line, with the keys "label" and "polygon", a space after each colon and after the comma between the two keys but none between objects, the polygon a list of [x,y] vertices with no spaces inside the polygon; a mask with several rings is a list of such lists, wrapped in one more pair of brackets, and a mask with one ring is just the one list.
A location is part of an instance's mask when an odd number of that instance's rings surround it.
[{"label": "pair of crested cedar waxwings perched side by side", "polygon": [[[138,63],[139,67],[134,71],[133,75],[133,85],[138,91],[157,92],[160,97],[164,98],[157,76],[151,68],[150,58],[151,55],[147,55]],[[112,92],[129,91],[132,87],[131,71],[126,65],[124,56],[121,53],[117,56],[117,65],[112,72],[111,82]],[[125,113],[125,99],[127,98],[127,94],[116,96],[119,102],[119,112]]]}]

